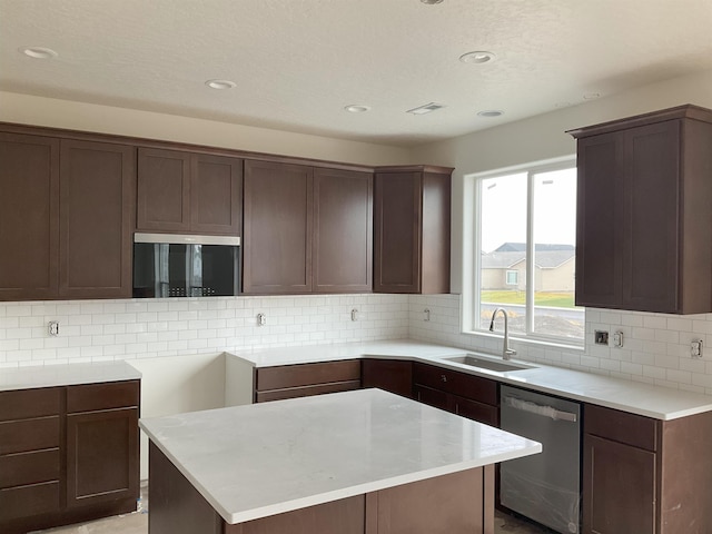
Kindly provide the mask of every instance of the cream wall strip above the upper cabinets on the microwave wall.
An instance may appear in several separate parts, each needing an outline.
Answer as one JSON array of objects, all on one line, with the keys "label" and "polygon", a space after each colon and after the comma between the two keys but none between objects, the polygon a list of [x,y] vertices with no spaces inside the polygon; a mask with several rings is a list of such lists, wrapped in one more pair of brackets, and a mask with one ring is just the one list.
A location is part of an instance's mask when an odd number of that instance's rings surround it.
[{"label": "cream wall strip above the upper cabinets on the microwave wall", "polygon": [[405,148],[0,91],[0,121],[363,165],[408,162]]}]

